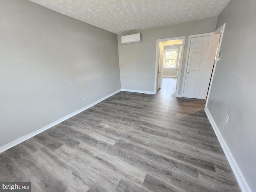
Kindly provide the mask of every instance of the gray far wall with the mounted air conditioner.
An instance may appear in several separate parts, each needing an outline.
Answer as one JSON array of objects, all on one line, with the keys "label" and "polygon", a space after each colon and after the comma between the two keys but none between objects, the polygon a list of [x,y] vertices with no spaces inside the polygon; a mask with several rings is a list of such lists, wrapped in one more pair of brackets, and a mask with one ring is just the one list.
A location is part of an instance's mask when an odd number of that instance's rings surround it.
[{"label": "gray far wall with the mounted air conditioner", "polygon": [[[183,68],[186,62],[188,36],[214,32],[217,16],[190,21],[172,26],[136,30],[118,34],[118,54],[122,89],[154,92],[156,66],[156,40],[186,36],[183,58]],[[121,36],[141,33],[142,42],[138,44],[121,44]],[[182,79],[182,77],[181,77]],[[180,81],[182,84],[182,81]],[[180,89],[181,90],[181,89]]]}]

